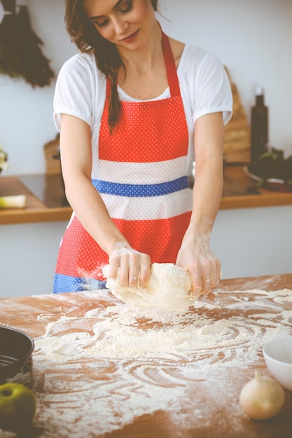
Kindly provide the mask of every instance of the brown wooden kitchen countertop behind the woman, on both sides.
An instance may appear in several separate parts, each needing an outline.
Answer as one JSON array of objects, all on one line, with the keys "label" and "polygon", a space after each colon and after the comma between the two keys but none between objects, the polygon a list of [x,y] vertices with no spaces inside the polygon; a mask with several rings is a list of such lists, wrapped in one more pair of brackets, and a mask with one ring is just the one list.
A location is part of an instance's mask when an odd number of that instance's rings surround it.
[{"label": "brown wooden kitchen countertop behind the woman, on both sides", "polygon": [[[34,190],[22,183],[25,178],[34,182]],[[5,195],[27,195],[27,206],[25,209],[0,209],[0,225],[69,220],[71,216],[71,207],[64,202],[60,175],[1,176],[0,196]],[[225,167],[221,210],[283,205],[292,205],[292,192],[258,190],[242,166]]]}]

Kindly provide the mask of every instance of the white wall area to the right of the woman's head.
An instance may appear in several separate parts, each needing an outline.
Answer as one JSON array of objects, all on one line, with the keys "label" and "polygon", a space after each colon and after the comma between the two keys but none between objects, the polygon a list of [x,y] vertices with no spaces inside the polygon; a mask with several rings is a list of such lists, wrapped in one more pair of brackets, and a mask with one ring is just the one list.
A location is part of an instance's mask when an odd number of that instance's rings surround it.
[{"label": "white wall area to the right of the woman's head", "polygon": [[292,155],[292,1],[161,1],[171,20],[163,25],[166,33],[221,58],[249,120],[254,89],[265,88],[270,145]]}]

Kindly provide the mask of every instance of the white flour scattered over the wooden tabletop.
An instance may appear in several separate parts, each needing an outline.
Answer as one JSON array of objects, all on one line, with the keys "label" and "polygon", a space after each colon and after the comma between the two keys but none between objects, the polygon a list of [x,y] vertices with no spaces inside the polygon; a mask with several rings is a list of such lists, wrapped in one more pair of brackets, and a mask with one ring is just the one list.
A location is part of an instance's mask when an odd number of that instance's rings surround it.
[{"label": "white flour scattered over the wooden tabletop", "polygon": [[[183,437],[195,418],[209,424],[232,374],[240,385],[240,370],[263,361],[263,345],[291,334],[292,290],[218,290],[181,312],[133,309],[102,290],[83,293],[109,305],[82,317],[39,316],[46,333],[35,339],[34,369],[44,438],[102,437],[160,410],[172,437]],[[197,404],[197,391],[208,403]],[[240,432],[234,391],[229,409]]]}]

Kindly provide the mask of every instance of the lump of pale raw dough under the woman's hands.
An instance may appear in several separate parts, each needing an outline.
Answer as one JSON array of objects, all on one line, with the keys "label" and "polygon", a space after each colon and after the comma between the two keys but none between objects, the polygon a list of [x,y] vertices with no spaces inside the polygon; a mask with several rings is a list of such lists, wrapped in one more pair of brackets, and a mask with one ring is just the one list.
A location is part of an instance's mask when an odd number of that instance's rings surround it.
[{"label": "lump of pale raw dough under the woman's hands", "polygon": [[195,303],[188,271],[173,263],[153,263],[146,288],[125,288],[120,285],[119,276],[116,280],[109,277],[109,271],[110,265],[107,264],[103,269],[106,288],[130,306],[183,311]]}]

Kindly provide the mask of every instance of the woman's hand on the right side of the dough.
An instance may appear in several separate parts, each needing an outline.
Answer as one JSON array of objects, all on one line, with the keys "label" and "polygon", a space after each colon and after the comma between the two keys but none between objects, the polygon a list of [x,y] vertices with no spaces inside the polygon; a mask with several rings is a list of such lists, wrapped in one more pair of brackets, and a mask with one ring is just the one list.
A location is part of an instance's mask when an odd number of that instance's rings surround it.
[{"label": "woman's hand on the right side of the dough", "polygon": [[220,261],[209,249],[209,239],[200,237],[183,243],[176,264],[190,273],[195,297],[210,292],[220,281]]}]

